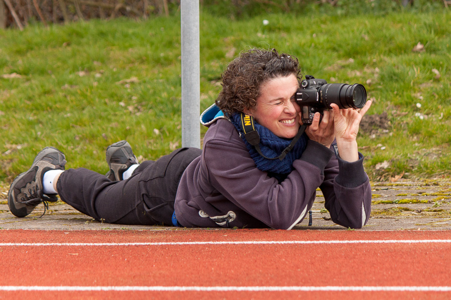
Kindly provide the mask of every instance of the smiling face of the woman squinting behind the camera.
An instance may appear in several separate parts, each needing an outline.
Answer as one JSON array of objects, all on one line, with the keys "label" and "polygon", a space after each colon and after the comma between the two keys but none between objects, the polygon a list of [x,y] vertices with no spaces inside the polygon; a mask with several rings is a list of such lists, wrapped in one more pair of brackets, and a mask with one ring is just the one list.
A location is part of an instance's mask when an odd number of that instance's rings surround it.
[{"label": "smiling face of the woman squinting behind the camera", "polygon": [[254,116],[256,121],[270,129],[279,137],[293,138],[299,130],[299,112],[295,93],[298,89],[296,75],[279,76],[261,86],[257,105],[245,113]]}]

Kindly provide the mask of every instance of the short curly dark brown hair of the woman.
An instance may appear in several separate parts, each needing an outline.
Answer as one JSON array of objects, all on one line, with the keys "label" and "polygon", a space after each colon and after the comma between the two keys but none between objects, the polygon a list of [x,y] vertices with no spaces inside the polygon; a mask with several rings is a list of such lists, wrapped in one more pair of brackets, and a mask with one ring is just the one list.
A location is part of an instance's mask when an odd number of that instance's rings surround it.
[{"label": "short curly dark brown hair of the woman", "polygon": [[257,105],[261,86],[278,76],[294,74],[301,80],[298,58],[286,53],[279,54],[276,49],[252,48],[227,65],[221,74],[222,90],[216,105],[227,115],[243,112]]}]

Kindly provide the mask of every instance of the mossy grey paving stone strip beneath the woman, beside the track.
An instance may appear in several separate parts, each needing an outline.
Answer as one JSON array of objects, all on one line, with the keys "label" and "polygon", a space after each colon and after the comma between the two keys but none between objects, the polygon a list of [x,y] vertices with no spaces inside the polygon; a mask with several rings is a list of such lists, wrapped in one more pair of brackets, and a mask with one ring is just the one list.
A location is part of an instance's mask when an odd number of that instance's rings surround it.
[{"label": "mossy grey paving stone strip beneath the woman, beside the track", "polygon": [[[372,182],[372,208],[368,223],[358,230],[446,230],[451,229],[451,181]],[[64,202],[52,203],[44,213],[40,204],[28,216],[15,217],[8,209],[7,190],[0,192],[0,228],[2,229],[169,229],[174,227],[108,224],[93,220]],[[42,215],[42,216],[41,216]],[[308,215],[294,229],[347,230],[330,220],[324,198],[318,191],[312,208],[312,226]]]}]

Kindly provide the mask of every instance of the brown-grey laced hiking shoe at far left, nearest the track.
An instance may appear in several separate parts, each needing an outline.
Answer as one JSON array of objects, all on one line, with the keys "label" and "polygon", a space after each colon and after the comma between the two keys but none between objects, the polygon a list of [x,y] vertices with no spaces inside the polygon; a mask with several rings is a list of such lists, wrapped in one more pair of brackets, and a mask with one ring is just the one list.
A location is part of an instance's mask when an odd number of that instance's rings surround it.
[{"label": "brown-grey laced hiking shoe at far left, nearest the track", "polygon": [[47,208],[47,202],[58,200],[56,194],[44,194],[43,177],[48,170],[64,170],[65,158],[57,148],[45,147],[36,155],[30,169],[14,179],[8,191],[8,206],[15,216],[24,217],[39,203],[44,202]]}]

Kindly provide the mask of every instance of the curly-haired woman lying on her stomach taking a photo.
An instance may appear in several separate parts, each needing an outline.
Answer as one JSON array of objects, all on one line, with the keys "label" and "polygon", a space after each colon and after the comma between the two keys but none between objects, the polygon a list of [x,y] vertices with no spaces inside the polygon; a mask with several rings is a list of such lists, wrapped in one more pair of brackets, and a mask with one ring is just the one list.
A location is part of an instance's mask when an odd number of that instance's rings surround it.
[{"label": "curly-haired woman lying on her stomach taking a photo", "polygon": [[[294,56],[244,51],[223,72],[216,104],[201,116],[208,126],[202,150],[181,148],[139,164],[129,143],[119,141],[106,150],[105,176],[64,170],[65,155],[46,147],[11,184],[10,210],[23,217],[59,194],[109,223],[291,229],[304,219],[319,187],[332,220],[360,228],[370,215],[371,187],[356,136],[371,101],[360,111],[332,104],[321,121],[317,112],[296,136],[301,76]],[[260,151],[245,138],[242,113],[255,118]],[[282,160],[268,159],[279,157],[294,138]]]}]

